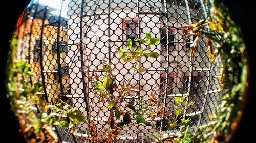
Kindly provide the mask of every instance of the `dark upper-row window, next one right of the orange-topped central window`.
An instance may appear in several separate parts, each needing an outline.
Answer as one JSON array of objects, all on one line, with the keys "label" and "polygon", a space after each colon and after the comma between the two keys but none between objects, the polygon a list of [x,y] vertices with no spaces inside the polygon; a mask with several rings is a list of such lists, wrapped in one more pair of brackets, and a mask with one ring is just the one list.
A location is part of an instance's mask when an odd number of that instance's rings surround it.
[{"label": "dark upper-row window, next one right of the orange-topped central window", "polygon": [[[161,48],[168,49],[167,45],[169,44],[169,50],[173,50],[175,48],[175,29],[170,28],[169,32],[167,32],[166,27],[161,28]],[[167,35],[168,34],[168,35]],[[169,42],[168,42],[169,39]]]}]

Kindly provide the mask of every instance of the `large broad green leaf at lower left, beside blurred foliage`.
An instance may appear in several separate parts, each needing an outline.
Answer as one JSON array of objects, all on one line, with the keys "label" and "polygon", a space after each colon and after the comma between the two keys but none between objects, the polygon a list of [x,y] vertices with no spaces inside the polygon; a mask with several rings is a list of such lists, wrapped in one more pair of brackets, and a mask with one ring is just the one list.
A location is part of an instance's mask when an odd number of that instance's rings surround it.
[{"label": "large broad green leaf at lower left, beside blurred foliage", "polygon": [[70,109],[68,111],[69,119],[73,122],[84,122],[86,121],[86,117],[83,115],[83,113],[77,109]]}]

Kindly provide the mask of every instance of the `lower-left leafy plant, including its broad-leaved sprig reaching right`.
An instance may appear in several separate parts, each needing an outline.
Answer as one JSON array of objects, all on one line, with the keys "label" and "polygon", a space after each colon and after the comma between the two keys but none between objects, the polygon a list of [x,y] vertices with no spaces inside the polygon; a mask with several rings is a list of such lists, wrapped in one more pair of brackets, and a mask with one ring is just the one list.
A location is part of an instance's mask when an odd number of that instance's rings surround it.
[{"label": "lower-left leafy plant, including its broad-leaved sprig reaching right", "polygon": [[[30,68],[31,65],[25,61],[14,62],[10,68],[7,86],[11,109],[18,117],[26,139],[29,140],[30,136],[35,135],[42,141],[57,142],[58,136],[51,127],[69,127],[73,132],[74,125],[78,122],[85,122],[86,117],[60,99],[58,101],[62,103],[56,106],[47,105],[44,92],[42,92],[42,82],[37,81],[33,84],[30,82],[32,77],[38,79]],[[65,106],[62,107],[62,104]]]}]

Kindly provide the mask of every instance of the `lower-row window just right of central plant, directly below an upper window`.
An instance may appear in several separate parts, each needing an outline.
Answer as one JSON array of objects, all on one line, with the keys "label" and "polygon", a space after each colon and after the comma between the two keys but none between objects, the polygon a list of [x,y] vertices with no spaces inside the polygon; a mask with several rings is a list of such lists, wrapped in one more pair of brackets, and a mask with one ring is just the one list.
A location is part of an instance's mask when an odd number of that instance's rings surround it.
[{"label": "lower-row window just right of central plant, directly below an upper window", "polygon": [[[160,78],[160,91],[165,92],[166,89],[166,94],[173,94],[173,81],[174,81],[174,74],[169,74],[168,78],[166,78],[166,75],[162,75]],[[167,81],[166,81],[167,80]],[[167,83],[167,84],[166,84]]]}]

